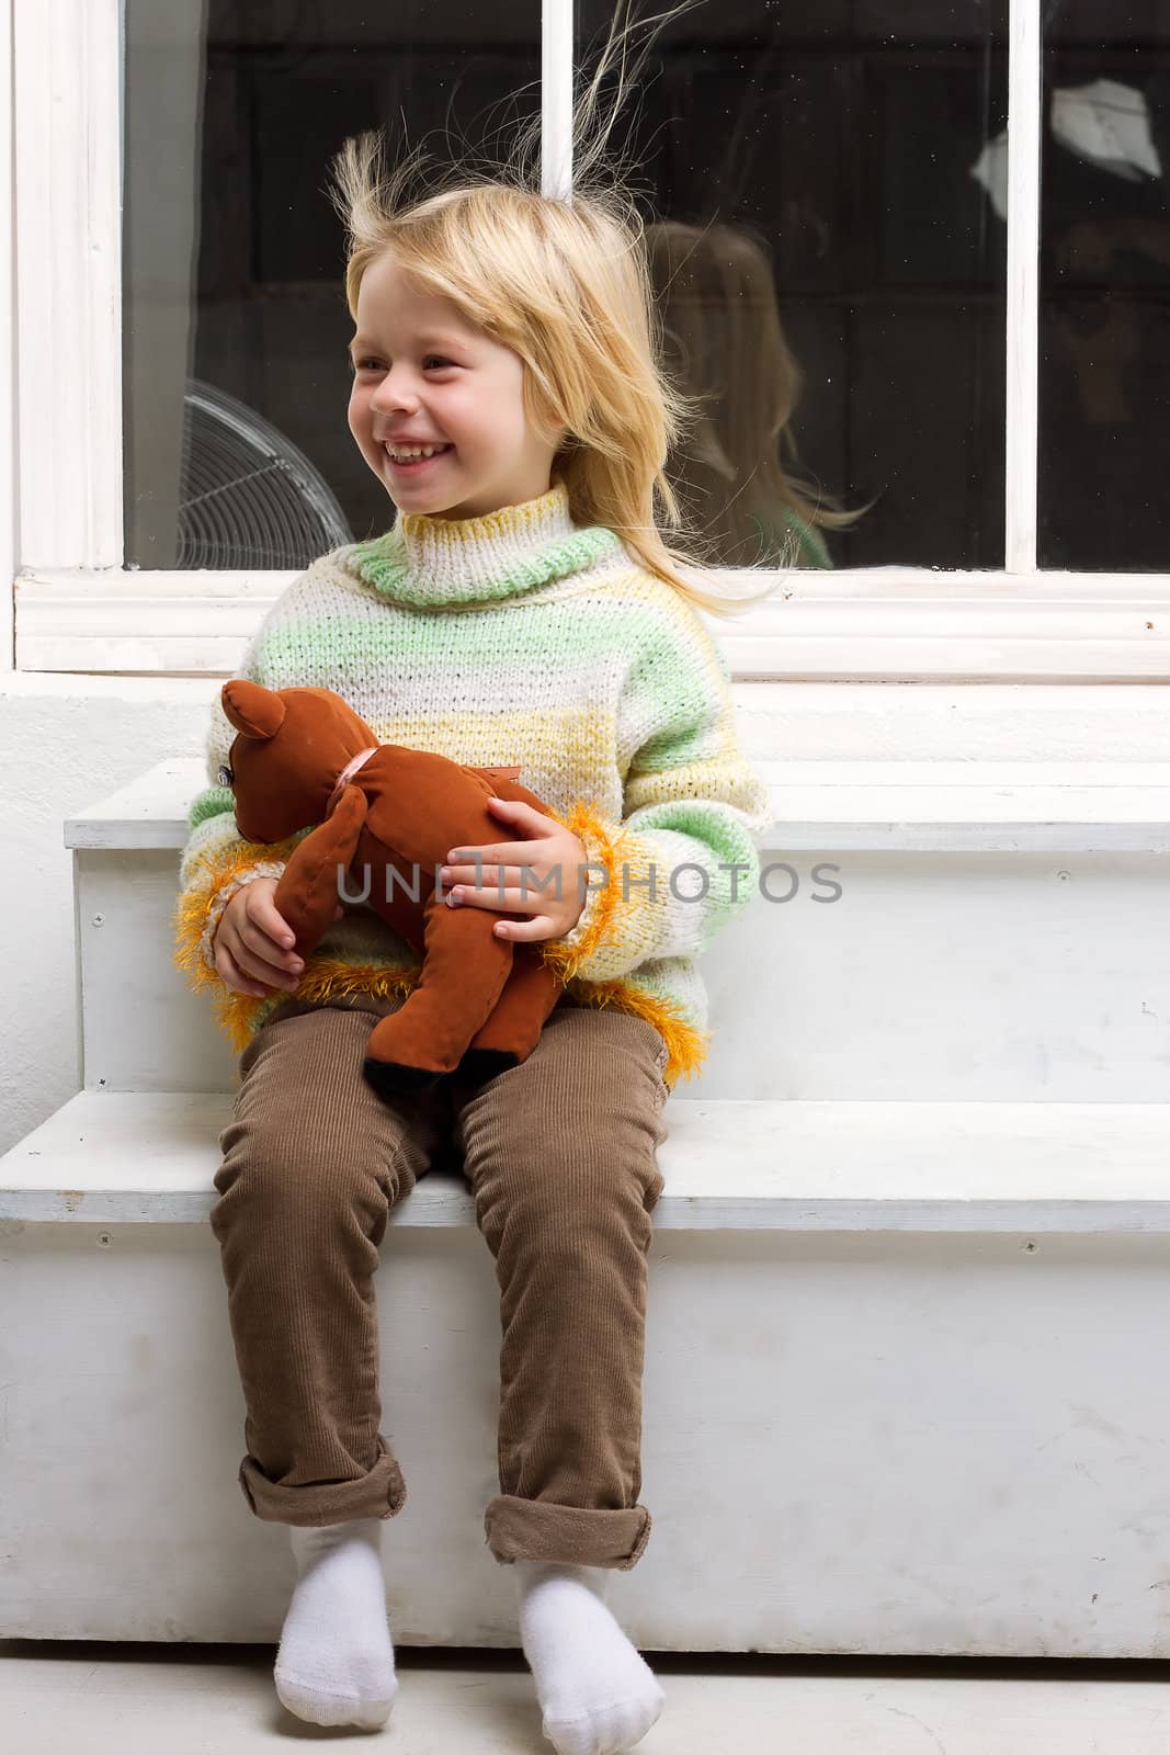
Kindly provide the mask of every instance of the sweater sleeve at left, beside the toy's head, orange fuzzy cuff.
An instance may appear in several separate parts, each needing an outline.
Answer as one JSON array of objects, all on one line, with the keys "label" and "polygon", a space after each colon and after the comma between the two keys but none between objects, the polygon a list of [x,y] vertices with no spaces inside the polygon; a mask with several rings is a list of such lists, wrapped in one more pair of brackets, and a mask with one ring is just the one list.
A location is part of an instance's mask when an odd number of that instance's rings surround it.
[{"label": "sweater sleeve at left, beside the toy's head, orange fuzzy cuff", "polygon": [[[258,658],[261,635],[263,627],[249,641],[233,676],[263,683]],[[207,786],[195,795],[188,809],[188,839],[179,860],[179,899],[174,913],[174,962],[193,988],[210,986],[226,993],[228,988],[214,960],[214,939],[225,907],[256,878],[279,878],[293,848],[309,830],[298,830],[288,841],[274,844],[246,841],[240,834],[232,788],[219,784],[219,765],[226,763],[235,742],[235,727],[219,698],[221,688],[223,684],[216,688],[205,737]]]}]

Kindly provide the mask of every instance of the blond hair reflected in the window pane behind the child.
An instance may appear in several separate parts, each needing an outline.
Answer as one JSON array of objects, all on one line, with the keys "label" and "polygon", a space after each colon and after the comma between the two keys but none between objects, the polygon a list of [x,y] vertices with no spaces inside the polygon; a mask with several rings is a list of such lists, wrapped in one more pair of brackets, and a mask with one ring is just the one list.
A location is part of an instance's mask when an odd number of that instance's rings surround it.
[{"label": "blond hair reflected in the window pane behind the child", "polygon": [[665,219],[647,240],[670,363],[705,404],[689,446],[670,460],[674,486],[693,490],[724,565],[761,558],[763,548],[774,565],[831,567],[819,530],[844,530],[860,512],[784,467],[786,453],[798,462],[788,423],[802,374],[765,251],[740,225]]}]

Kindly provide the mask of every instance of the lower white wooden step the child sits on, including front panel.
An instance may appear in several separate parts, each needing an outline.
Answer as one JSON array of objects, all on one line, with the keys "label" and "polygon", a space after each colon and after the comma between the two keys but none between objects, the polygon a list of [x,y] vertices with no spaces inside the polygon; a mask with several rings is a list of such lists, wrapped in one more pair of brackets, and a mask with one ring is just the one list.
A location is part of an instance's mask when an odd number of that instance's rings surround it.
[{"label": "lower white wooden step the child sits on, including front panel", "polygon": [[[237,1486],[207,1228],[230,1114],[82,1092],[0,1162],[0,1637],[279,1637],[293,1560]],[[1166,1107],[672,1097],[667,1120],[635,1644],[1170,1657]],[[482,1539],[498,1285],[461,1178],[423,1178],[381,1253],[391,1625],[514,1648]]]}]

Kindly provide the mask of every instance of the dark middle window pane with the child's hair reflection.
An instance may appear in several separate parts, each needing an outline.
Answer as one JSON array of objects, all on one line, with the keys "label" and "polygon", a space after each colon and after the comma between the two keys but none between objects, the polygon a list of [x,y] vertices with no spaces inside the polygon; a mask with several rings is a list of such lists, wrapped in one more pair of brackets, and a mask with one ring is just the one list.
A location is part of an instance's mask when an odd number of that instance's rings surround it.
[{"label": "dark middle window pane with the child's hair reflection", "polygon": [[[640,86],[616,137],[703,397],[667,470],[714,558],[1002,567],[1007,0],[721,0]],[[810,530],[800,481],[874,504]]]}]

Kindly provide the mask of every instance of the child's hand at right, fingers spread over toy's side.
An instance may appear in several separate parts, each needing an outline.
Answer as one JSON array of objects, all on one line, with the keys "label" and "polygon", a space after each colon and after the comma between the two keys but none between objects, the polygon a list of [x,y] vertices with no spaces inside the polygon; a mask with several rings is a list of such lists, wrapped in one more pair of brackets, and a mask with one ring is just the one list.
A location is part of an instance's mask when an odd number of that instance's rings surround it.
[{"label": "child's hand at right, fingers spread over toy's side", "polygon": [[[586,893],[581,872],[589,863],[579,837],[523,799],[488,799],[488,806],[500,811],[524,835],[523,858],[517,862],[521,848],[516,841],[453,848],[440,874],[442,888],[447,895],[454,895],[454,902],[447,906],[530,914],[530,920],[498,920],[493,927],[498,937],[517,942],[535,944],[572,932],[584,914]],[[526,895],[521,893],[523,870],[528,872]],[[539,885],[546,888],[540,890]]]}]

